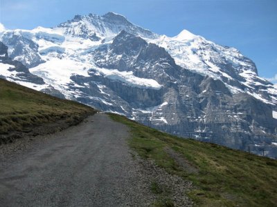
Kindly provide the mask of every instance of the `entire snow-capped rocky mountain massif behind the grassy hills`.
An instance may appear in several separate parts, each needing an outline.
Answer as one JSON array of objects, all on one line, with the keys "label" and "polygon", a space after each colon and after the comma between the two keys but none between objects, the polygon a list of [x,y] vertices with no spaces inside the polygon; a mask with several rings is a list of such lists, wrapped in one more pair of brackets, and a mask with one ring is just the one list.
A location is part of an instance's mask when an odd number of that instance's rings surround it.
[{"label": "entire snow-capped rocky mountain massif behind the grassy hills", "polygon": [[1,28],[0,41],[8,46],[1,57],[33,76],[21,78],[0,59],[3,78],[172,134],[277,157],[277,88],[235,48],[186,30],[154,34],[112,12],[55,28]]}]

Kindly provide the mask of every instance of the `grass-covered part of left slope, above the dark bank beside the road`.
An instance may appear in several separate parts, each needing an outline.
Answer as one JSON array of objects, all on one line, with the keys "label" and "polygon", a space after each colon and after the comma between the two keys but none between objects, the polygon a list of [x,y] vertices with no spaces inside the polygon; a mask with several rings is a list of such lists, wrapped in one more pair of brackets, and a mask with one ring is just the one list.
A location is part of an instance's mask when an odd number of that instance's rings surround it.
[{"label": "grass-covered part of left slope, above the dark bank beside the road", "polygon": [[72,121],[93,112],[93,108],[75,101],[57,99],[0,79],[0,134],[60,119]]}]

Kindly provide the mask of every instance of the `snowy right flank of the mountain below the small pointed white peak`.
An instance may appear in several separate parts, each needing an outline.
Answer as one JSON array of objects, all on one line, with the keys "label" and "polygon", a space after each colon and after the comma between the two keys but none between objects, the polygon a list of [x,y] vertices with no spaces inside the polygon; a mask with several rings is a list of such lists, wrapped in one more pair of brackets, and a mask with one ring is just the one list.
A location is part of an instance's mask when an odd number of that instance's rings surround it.
[{"label": "snowy right flank of the mountain below the small pointed white peak", "polygon": [[179,66],[220,79],[233,94],[246,92],[265,103],[277,103],[276,86],[258,77],[255,63],[235,48],[217,45],[187,30],[176,37],[163,35],[149,41],[166,48]]}]

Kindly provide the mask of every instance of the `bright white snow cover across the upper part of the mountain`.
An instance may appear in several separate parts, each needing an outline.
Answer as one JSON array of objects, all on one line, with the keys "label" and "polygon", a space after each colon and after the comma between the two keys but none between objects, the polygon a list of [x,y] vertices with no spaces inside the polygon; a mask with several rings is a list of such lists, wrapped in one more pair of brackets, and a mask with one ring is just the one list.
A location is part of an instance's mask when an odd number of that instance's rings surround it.
[{"label": "bright white snow cover across the upper part of the mountain", "polygon": [[[120,21],[123,21],[123,25],[105,21],[109,16],[120,19]],[[123,81],[130,86],[160,89],[162,85],[154,79],[135,77],[132,72],[119,72],[116,68],[97,68],[91,59],[91,51],[96,50],[99,46],[111,43],[121,30],[131,30],[135,31],[135,34],[148,41],[148,43],[155,43],[165,48],[179,66],[204,76],[208,75],[213,79],[222,80],[233,94],[247,92],[265,103],[277,103],[276,87],[269,86],[265,79],[258,77],[253,63],[246,61],[240,51],[235,48],[217,45],[188,30],[181,31],[175,37],[154,34],[149,30],[129,23],[125,17],[115,13],[108,13],[102,17],[95,14],[83,17],[76,16],[72,21],[62,23],[55,28],[37,27],[33,30],[14,31],[6,30],[3,25],[0,28],[0,40],[7,35],[15,34],[37,43],[38,55],[46,63],[30,68],[30,71],[45,78],[46,83],[55,86],[57,89],[61,89],[61,86],[62,88],[66,87],[66,84],[71,83],[70,77],[72,74],[88,76],[89,69],[97,70],[100,75]],[[87,39],[84,36],[92,36],[93,39]],[[30,50],[30,48],[25,49]],[[9,47],[9,55],[14,50],[15,48]],[[222,59],[222,57],[224,58]],[[24,57],[17,56],[15,59],[22,61]],[[26,58],[25,62],[30,63],[30,57]],[[245,80],[242,81],[242,85],[247,87],[248,90],[242,90],[238,86],[229,84],[229,81],[234,81],[234,78],[229,72],[220,68],[221,63],[229,63],[235,75]],[[5,76],[9,75],[11,74],[6,73]],[[269,93],[271,99],[258,92],[255,89],[256,86],[267,87],[266,92]]]}]

